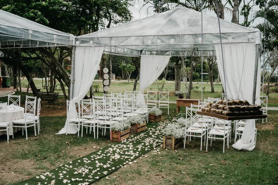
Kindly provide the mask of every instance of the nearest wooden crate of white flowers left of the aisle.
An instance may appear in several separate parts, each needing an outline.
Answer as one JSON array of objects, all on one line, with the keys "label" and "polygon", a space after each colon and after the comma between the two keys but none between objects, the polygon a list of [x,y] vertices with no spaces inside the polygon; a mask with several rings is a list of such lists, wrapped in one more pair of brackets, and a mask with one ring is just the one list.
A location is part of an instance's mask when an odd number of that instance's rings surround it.
[{"label": "nearest wooden crate of white flowers left of the aisle", "polygon": [[129,137],[130,122],[117,121],[111,125],[110,141],[120,142]]}]

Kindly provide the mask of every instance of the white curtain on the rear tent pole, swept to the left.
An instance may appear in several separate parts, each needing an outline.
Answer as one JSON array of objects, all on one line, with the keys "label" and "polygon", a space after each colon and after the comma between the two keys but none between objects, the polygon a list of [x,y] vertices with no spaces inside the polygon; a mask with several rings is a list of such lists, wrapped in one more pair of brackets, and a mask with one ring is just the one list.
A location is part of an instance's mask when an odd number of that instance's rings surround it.
[{"label": "white curtain on the rear tent pole, swept to the left", "polygon": [[149,87],[161,75],[170,56],[141,55],[139,90]]}]

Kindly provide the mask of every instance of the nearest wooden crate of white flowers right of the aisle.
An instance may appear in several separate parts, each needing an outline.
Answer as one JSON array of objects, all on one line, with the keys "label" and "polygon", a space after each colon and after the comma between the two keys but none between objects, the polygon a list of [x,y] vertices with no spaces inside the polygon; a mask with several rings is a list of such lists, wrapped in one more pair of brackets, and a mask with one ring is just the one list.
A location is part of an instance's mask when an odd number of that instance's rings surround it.
[{"label": "nearest wooden crate of white flowers right of the aisle", "polygon": [[177,123],[170,123],[163,129],[163,148],[175,150],[182,145],[186,119],[179,118]]}]

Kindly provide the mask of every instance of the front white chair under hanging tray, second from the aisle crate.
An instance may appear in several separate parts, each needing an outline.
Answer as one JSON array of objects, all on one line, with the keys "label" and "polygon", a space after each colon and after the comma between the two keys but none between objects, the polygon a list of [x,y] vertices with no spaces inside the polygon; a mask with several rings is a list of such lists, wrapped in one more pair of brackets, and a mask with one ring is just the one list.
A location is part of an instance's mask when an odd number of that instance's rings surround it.
[{"label": "front white chair under hanging tray, second from the aisle crate", "polygon": [[225,140],[227,139],[227,147],[229,148],[229,137],[230,137],[230,131],[226,124],[223,124],[222,126],[217,126],[216,122],[213,122],[209,126],[208,132],[207,132],[207,139],[206,139],[206,150],[208,150],[208,141],[211,139],[211,145],[212,145],[212,139],[219,139],[223,140],[223,153],[225,151]]}]

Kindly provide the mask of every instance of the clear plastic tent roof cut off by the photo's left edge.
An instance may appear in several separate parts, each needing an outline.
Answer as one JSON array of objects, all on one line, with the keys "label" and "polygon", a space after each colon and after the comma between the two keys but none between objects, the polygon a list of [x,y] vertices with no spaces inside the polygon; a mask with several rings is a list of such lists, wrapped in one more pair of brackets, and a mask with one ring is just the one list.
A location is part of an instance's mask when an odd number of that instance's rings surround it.
[{"label": "clear plastic tent roof cut off by the photo's left edge", "polygon": [[0,10],[0,48],[74,45],[74,35]]}]

